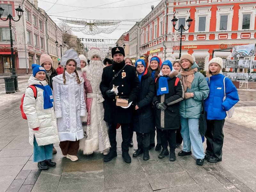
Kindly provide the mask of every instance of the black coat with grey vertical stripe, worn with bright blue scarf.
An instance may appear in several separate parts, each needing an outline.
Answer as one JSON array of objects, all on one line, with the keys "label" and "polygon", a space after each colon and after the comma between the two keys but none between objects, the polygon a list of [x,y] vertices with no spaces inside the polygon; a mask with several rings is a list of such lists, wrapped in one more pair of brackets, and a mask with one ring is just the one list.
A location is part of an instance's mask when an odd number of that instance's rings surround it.
[{"label": "black coat with grey vertical stripe, worn with bright blue scarf", "polygon": [[[162,103],[167,106],[165,110],[154,108],[156,127],[162,130],[167,129],[179,129],[180,127],[180,114],[179,114],[179,102],[184,98],[184,88],[181,81],[177,86],[174,86],[178,77],[173,77],[168,80],[169,93],[158,95],[154,97],[153,103]],[[178,78],[179,80],[179,78]],[[158,89],[158,81],[156,80],[156,90]]]}]

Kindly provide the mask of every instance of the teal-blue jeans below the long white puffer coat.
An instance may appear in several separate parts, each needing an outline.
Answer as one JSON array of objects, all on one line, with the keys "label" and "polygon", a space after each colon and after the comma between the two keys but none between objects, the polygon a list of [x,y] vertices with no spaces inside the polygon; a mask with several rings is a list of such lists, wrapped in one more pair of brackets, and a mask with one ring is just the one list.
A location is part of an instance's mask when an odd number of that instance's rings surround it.
[{"label": "teal-blue jeans below the long white puffer coat", "polygon": [[34,151],[34,158],[33,158],[34,162],[52,159],[53,144],[38,146],[35,136],[34,136],[33,144],[34,144],[34,150],[33,150]]}]

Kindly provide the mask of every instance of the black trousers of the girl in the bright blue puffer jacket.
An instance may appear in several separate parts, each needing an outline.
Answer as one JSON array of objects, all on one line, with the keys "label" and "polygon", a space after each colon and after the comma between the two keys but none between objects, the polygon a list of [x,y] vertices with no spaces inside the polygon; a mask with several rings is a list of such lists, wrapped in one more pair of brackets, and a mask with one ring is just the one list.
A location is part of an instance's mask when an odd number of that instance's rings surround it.
[{"label": "black trousers of the girl in the bright blue puffer jacket", "polygon": [[206,120],[207,130],[205,132],[206,150],[208,156],[213,156],[219,160],[222,157],[222,147],[224,141],[223,126],[225,119],[222,120]]}]

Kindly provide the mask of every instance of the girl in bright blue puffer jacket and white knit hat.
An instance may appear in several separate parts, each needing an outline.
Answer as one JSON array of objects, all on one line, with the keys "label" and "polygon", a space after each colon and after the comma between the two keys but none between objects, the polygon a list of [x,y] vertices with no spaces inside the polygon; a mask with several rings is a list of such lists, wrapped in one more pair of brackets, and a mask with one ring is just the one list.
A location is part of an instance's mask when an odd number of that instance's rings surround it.
[{"label": "girl in bright blue puffer jacket and white knit hat", "polygon": [[[208,98],[205,100],[207,131],[205,159],[210,163],[216,163],[222,160],[223,146],[223,125],[226,118],[226,111],[232,108],[238,101],[238,93],[235,85],[229,78],[221,74],[223,61],[220,57],[215,57],[209,61],[207,71],[207,83],[210,88]],[[226,99],[224,97],[224,83]]]}]

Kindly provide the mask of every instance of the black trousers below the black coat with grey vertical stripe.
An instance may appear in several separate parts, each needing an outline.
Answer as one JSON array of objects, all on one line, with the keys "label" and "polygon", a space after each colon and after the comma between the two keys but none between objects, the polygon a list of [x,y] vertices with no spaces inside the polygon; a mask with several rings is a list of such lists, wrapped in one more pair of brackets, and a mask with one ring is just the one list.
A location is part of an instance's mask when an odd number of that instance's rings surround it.
[{"label": "black trousers below the black coat with grey vertical stripe", "polygon": [[170,145],[170,150],[175,150],[176,148],[176,129],[161,130],[161,145],[162,148],[167,148],[168,142]]}]

